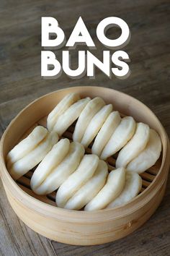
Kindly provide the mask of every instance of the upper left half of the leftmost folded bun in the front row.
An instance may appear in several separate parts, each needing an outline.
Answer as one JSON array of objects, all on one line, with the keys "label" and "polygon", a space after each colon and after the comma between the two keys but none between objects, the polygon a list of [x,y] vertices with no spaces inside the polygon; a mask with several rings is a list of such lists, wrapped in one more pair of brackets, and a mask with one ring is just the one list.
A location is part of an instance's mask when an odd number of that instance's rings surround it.
[{"label": "upper left half of the leftmost folded bun in the front row", "polygon": [[48,130],[44,127],[38,125],[32,130],[30,135],[28,135],[24,140],[19,142],[6,156],[6,160],[11,163],[17,162],[19,159],[23,158],[27,153],[30,153],[48,134]]}]

